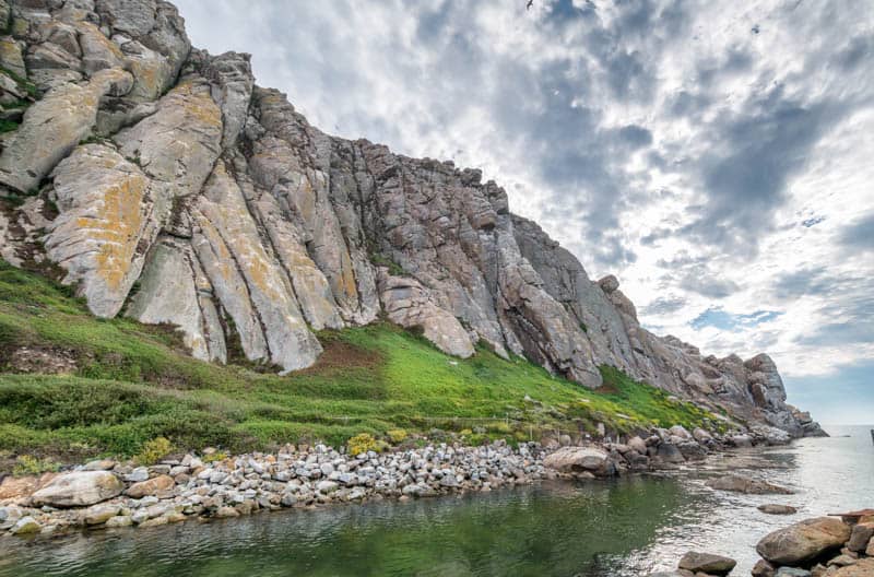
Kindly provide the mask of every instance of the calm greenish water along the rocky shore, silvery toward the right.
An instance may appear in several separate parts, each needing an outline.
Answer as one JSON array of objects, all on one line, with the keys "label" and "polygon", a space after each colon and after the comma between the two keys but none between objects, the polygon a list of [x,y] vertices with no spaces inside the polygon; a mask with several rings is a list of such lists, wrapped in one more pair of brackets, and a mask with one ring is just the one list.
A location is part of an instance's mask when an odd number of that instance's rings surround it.
[{"label": "calm greenish water along the rocky shore, silvery toward the right", "polygon": [[[704,472],[543,485],[410,503],[371,503],[152,530],[0,541],[0,576],[625,577],[673,568],[689,549],[740,561],[768,531],[807,516],[874,506],[871,427],[741,455]],[[704,486],[745,470],[795,495],[740,496]],[[766,516],[761,503],[794,505]]]}]

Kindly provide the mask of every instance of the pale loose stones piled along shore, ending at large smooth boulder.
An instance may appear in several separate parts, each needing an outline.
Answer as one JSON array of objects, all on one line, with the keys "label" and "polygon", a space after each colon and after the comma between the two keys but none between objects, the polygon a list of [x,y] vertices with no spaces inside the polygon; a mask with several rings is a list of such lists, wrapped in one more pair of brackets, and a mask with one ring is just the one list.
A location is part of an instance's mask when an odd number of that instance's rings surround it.
[{"label": "pale loose stones piled along shore, ending at large smooth boulder", "polygon": [[[54,476],[0,507],[0,530],[56,533],[73,528],[153,527],[188,518],[227,518],[257,510],[364,499],[436,496],[527,484],[555,476],[539,444],[513,449],[426,446],[356,457],[317,445],[275,455],[186,455],[152,467],[93,461]],[[212,455],[215,458],[215,454]]]}]

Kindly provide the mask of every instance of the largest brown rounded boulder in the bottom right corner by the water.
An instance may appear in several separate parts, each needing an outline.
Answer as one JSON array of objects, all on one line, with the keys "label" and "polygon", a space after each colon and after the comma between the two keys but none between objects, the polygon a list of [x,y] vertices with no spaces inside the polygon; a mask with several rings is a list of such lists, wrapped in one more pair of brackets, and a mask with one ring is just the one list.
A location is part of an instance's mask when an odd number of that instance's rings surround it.
[{"label": "largest brown rounded boulder in the bottom right corner by the water", "polygon": [[778,565],[800,565],[840,549],[848,539],[849,526],[830,517],[817,517],[768,533],[756,551]]}]

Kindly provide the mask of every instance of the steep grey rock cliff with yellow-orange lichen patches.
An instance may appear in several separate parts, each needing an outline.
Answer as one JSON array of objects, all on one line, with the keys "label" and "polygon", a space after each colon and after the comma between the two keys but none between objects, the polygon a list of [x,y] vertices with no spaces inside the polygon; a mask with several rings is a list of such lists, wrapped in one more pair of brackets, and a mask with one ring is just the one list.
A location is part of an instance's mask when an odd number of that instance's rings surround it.
[{"label": "steep grey rock cliff with yellow-orange lichen patches", "polygon": [[793,435],[773,362],[638,322],[479,170],[311,127],[248,55],[190,46],[162,0],[0,0],[0,255],[54,263],[98,316],[172,323],[191,354],[290,372],[314,331],[380,315],[581,386],[599,365]]}]

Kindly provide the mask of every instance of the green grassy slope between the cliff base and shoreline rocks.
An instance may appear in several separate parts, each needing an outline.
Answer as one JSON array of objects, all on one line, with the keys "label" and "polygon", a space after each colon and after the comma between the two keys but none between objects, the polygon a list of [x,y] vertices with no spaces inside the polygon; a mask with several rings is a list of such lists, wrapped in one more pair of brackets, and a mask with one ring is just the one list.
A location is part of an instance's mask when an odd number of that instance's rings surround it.
[{"label": "green grassy slope between the cliff base and shoreline rocks", "polygon": [[[172,330],[94,318],[69,288],[0,261],[0,451],[132,455],[157,436],[179,448],[246,450],[398,427],[528,439],[598,422],[630,431],[712,417],[610,367],[605,392],[593,392],[486,350],[453,360],[386,323],[319,338],[319,362],[286,377],[203,363],[179,353]],[[10,353],[22,345],[64,351],[76,374],[11,374]]]}]

